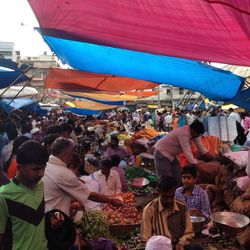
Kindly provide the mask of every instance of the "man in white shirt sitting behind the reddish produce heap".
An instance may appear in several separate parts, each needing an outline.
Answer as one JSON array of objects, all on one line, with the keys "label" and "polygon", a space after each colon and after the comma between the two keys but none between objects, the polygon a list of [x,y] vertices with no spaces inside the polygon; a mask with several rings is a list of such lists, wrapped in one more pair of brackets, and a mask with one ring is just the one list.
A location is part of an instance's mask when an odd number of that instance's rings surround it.
[{"label": "man in white shirt sitting behind the reddish produce heap", "polygon": [[100,184],[100,193],[112,196],[122,191],[119,174],[112,170],[112,162],[109,159],[101,161],[101,170],[94,173],[95,179]]}]

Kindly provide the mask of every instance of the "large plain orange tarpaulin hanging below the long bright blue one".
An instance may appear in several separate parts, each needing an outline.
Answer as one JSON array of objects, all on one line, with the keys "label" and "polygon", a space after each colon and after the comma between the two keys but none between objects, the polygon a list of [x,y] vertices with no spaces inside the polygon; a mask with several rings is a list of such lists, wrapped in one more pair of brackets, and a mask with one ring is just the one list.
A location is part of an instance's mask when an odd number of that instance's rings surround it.
[{"label": "large plain orange tarpaulin hanging below the long bright blue one", "polygon": [[45,88],[74,91],[131,91],[151,89],[158,84],[108,74],[94,74],[68,69],[50,69]]}]

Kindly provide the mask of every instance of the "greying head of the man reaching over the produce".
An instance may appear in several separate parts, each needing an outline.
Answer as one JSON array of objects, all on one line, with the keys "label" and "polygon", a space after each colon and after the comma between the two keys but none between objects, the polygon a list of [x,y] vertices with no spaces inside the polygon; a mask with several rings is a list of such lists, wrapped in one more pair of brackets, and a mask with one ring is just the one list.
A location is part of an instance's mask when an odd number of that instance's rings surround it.
[{"label": "greying head of the man reaching over the produce", "polygon": [[68,166],[72,159],[74,148],[75,144],[72,139],[59,137],[53,142],[51,153]]}]

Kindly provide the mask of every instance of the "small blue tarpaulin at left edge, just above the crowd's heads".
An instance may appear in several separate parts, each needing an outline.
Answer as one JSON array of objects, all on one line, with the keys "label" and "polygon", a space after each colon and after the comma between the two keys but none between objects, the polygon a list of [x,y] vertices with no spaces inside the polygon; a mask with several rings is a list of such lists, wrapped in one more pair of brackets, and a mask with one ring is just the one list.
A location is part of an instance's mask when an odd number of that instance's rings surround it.
[{"label": "small blue tarpaulin at left edge, just above the crowd's heads", "polygon": [[47,110],[41,108],[35,100],[28,98],[18,98],[13,101],[9,99],[0,99],[0,107],[7,113],[10,113],[15,109],[30,111],[38,115],[46,115],[48,112]]}]

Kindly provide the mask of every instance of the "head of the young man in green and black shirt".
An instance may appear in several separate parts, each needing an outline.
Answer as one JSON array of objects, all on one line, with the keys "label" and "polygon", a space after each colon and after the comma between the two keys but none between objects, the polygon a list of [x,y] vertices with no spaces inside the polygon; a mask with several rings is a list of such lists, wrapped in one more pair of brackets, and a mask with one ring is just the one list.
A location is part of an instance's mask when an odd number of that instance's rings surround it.
[{"label": "head of the young man in green and black shirt", "polygon": [[46,149],[37,141],[26,141],[17,150],[17,178],[27,187],[34,187],[44,175],[48,161]]}]

